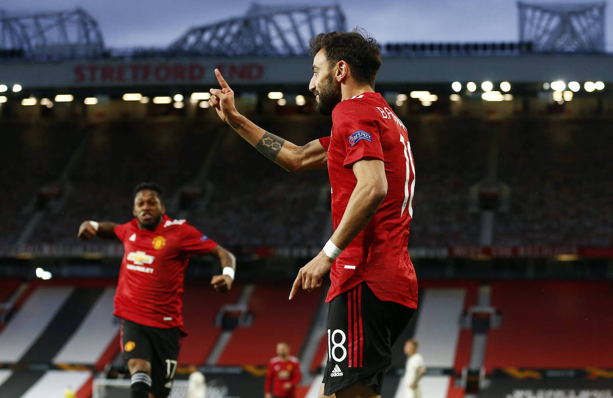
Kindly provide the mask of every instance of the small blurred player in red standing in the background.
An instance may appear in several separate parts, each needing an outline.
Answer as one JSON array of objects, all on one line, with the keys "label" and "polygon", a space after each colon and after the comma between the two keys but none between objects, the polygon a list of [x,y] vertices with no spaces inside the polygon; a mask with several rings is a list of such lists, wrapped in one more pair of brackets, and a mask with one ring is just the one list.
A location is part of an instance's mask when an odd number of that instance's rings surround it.
[{"label": "small blurred player in red standing in the background", "polygon": [[295,398],[300,378],[300,361],[289,354],[289,344],[277,343],[276,356],[268,362],[264,398]]}]

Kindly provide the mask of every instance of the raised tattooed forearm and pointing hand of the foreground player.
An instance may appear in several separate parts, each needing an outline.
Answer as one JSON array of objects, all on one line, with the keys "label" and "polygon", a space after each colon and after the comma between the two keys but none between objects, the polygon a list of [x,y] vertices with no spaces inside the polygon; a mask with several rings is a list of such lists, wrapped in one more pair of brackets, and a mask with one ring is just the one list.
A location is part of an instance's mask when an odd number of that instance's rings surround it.
[{"label": "raised tattooed forearm and pointing hand of the foreground player", "polygon": [[238,113],[234,104],[234,91],[224,80],[219,69],[215,69],[215,77],[221,89],[211,88],[209,104],[215,108],[221,120],[229,124],[262,155],[289,172],[326,167],[328,151],[319,143],[319,140],[313,140],[299,147],[259,128],[251,120]]}]

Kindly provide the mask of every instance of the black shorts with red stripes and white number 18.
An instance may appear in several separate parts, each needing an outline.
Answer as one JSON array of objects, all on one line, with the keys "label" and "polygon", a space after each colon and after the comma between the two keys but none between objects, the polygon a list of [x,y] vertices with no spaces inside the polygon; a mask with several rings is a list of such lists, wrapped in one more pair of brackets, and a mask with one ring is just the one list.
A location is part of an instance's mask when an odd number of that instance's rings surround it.
[{"label": "black shorts with red stripes and white number 18", "polygon": [[392,345],[415,310],[379,300],[365,282],[339,294],[328,312],[328,361],[324,395],[361,382],[381,394],[392,364]]}]

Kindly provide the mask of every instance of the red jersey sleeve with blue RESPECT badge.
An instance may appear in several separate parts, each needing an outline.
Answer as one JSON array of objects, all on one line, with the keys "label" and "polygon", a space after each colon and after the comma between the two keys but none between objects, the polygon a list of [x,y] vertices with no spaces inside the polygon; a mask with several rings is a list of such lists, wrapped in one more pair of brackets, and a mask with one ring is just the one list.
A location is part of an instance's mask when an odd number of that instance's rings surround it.
[{"label": "red jersey sleeve with blue RESPECT badge", "polygon": [[362,159],[384,160],[373,110],[357,101],[337,106],[337,110],[333,123],[337,124],[337,139],[346,150],[343,166],[351,168]]}]

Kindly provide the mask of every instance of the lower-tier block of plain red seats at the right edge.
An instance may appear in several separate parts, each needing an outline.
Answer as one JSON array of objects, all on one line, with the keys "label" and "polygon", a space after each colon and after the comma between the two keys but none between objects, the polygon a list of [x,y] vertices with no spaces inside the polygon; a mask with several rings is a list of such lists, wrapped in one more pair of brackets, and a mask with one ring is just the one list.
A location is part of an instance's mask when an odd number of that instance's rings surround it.
[{"label": "lower-tier block of plain red seats at the right edge", "polygon": [[488,332],[485,369],[610,367],[603,355],[613,321],[611,284],[603,281],[495,281],[499,329]]}]

